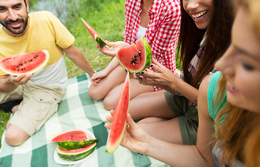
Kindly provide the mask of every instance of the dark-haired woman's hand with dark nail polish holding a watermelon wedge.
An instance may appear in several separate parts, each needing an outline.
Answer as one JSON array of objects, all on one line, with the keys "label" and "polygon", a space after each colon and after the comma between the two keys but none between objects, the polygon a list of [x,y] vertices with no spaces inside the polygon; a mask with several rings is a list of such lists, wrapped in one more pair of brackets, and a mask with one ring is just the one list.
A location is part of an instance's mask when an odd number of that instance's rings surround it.
[{"label": "dark-haired woman's hand with dark nail polish holding a watermelon wedge", "polygon": [[153,58],[153,63],[150,65],[153,67],[153,70],[144,70],[140,72],[140,75],[135,74],[132,75],[133,79],[137,79],[140,84],[148,85],[148,86],[157,86],[159,88],[163,88],[170,93],[173,93],[176,90],[177,81],[179,81],[179,77],[177,77],[171,70],[164,67],[164,65],[160,64],[158,61]]}]

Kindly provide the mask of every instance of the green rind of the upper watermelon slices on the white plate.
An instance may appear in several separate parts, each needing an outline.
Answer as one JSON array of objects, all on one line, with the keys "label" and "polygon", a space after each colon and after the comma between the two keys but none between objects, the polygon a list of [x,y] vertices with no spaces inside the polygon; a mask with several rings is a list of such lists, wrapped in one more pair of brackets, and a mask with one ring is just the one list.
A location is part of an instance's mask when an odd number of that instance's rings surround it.
[{"label": "green rind of the upper watermelon slices on the white plate", "polygon": [[60,142],[58,142],[58,146],[62,150],[76,150],[78,148],[83,148],[87,145],[96,143],[97,141],[98,141],[98,138],[94,138],[89,141],[60,141]]}]

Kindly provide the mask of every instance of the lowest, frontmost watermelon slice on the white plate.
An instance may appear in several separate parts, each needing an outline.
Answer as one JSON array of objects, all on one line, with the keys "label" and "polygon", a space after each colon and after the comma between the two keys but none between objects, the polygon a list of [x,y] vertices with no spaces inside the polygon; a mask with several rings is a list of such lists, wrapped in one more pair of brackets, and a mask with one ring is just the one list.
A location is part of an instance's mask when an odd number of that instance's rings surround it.
[{"label": "lowest, frontmost watermelon slice on the white plate", "polygon": [[92,154],[92,152],[96,148],[96,143],[92,143],[91,145],[87,145],[83,148],[78,148],[76,150],[62,150],[59,146],[56,147],[56,151],[61,159],[65,161],[78,161],[80,159],[84,159],[85,157]]}]

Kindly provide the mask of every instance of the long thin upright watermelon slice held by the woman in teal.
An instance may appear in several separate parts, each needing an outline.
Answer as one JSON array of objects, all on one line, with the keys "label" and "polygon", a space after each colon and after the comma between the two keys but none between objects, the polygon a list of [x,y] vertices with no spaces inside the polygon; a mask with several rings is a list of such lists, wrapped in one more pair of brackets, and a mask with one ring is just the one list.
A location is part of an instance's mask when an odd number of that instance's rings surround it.
[{"label": "long thin upright watermelon slice held by the woman in teal", "polygon": [[110,134],[107,138],[107,145],[105,148],[106,152],[112,154],[121,143],[123,133],[125,132],[126,126],[126,114],[129,109],[130,101],[130,79],[129,72],[125,78],[125,82],[119,96],[119,101],[116,104],[114,116],[111,123]]}]

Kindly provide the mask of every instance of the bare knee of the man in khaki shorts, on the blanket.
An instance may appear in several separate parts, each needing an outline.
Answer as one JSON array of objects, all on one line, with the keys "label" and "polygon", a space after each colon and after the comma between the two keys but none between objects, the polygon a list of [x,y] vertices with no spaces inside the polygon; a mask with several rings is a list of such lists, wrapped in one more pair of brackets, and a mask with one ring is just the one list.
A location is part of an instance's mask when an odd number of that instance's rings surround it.
[{"label": "bare knee of the man in khaki shorts, on the blanket", "polygon": [[24,143],[30,136],[26,132],[6,130],[6,143],[11,146],[17,146]]}]

